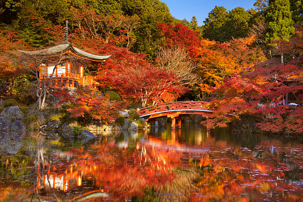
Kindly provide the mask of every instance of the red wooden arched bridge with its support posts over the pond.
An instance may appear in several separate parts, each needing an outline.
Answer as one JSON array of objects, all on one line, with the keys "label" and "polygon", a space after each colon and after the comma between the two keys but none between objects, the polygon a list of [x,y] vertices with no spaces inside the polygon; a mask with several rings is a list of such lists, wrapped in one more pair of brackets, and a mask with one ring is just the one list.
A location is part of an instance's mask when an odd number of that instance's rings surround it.
[{"label": "red wooden arched bridge with its support posts over the pond", "polygon": [[140,118],[144,118],[146,121],[157,117],[171,117],[172,128],[175,128],[176,118],[178,119],[178,126],[181,127],[181,116],[185,114],[200,114],[204,117],[208,117],[212,114],[212,110],[209,110],[205,105],[209,103],[206,101],[176,101],[163,104],[152,105],[137,109]]}]

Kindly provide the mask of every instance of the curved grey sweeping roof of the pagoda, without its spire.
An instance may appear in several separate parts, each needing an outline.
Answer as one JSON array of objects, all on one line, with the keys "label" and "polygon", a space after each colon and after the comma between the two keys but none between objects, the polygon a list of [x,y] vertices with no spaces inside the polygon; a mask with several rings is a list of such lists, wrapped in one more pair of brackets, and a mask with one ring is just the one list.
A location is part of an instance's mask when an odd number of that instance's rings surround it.
[{"label": "curved grey sweeping roof of the pagoda, without its spire", "polygon": [[59,55],[59,54],[66,54],[68,52],[72,53],[73,55],[83,58],[83,59],[88,59],[92,61],[104,61],[110,55],[95,55],[88,53],[86,51],[80,50],[72,44],[60,44],[54,47],[50,47],[48,49],[43,49],[43,50],[33,50],[33,51],[27,51],[27,50],[20,50],[21,52],[29,55],[35,55],[35,56],[53,56],[53,55]]}]

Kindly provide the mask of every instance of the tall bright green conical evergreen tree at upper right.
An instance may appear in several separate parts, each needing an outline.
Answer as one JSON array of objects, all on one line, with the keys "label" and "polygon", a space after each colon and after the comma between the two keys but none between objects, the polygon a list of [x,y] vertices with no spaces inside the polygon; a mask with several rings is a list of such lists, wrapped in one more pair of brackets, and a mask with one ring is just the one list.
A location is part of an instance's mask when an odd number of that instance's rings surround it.
[{"label": "tall bright green conical evergreen tree at upper right", "polygon": [[268,22],[267,43],[279,39],[288,40],[295,31],[292,26],[294,21],[289,0],[270,0],[266,19]]}]

